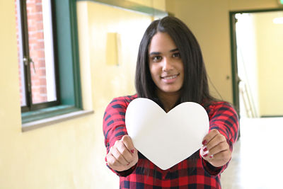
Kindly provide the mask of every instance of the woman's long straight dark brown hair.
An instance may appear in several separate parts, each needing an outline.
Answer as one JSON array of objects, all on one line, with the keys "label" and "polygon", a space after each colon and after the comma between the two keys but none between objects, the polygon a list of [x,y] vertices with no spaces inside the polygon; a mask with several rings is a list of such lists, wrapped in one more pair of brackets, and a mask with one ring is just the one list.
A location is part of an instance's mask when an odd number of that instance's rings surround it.
[{"label": "woman's long straight dark brown hair", "polygon": [[178,103],[195,102],[207,103],[216,99],[210,96],[207,83],[207,71],[204,67],[200,45],[187,25],[178,18],[166,16],[153,21],[146,29],[137,57],[135,86],[137,96],[154,100],[157,98],[156,85],[151,79],[149,71],[149,44],[153,36],[158,33],[168,33],[178,47],[184,64],[184,81],[182,93]]}]

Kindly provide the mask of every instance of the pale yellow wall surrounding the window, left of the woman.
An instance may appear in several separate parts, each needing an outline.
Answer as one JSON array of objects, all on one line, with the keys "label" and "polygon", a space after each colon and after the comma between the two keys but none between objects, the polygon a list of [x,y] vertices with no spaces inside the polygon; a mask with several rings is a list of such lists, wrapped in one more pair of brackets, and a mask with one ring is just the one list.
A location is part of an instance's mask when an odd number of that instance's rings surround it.
[{"label": "pale yellow wall surrounding the window, left of the woman", "polygon": [[[105,166],[103,113],[115,96],[134,93],[137,46],[151,17],[77,5],[83,108],[95,113],[21,132],[14,1],[0,0],[1,189],[118,188],[118,177]],[[118,66],[105,64],[106,32],[117,33]]]}]

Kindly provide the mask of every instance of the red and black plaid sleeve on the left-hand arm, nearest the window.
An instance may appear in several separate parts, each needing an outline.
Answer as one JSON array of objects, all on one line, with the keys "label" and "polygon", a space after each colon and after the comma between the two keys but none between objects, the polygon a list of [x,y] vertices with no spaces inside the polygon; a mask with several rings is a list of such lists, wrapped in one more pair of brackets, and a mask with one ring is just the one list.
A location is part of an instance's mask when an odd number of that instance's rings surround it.
[{"label": "red and black plaid sleeve on the left-hand arm, nearest the window", "polygon": [[[125,113],[129,102],[134,100],[134,98],[137,98],[137,96],[114,98],[105,110],[103,117],[103,134],[107,154],[115,142],[122,139],[122,137],[127,134]],[[106,156],[105,161],[107,161]],[[135,167],[136,166],[132,166],[132,168],[129,168],[127,171],[115,171],[108,166],[108,168],[118,176],[128,176],[134,171]]]}]

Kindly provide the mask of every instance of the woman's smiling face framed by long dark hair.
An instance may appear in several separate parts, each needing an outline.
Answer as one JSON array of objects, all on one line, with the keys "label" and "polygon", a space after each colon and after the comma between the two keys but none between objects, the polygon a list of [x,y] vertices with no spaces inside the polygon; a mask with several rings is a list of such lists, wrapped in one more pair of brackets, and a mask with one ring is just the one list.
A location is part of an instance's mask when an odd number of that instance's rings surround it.
[{"label": "woman's smiling face framed by long dark hair", "polygon": [[149,45],[149,70],[157,95],[180,95],[184,67],[178,47],[167,33],[158,32]]}]

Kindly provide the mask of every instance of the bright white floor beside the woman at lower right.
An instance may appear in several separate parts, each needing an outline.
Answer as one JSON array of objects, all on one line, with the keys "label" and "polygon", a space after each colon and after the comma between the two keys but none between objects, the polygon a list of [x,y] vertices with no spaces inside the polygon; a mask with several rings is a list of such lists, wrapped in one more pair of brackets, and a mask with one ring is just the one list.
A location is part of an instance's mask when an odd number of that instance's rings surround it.
[{"label": "bright white floor beside the woman at lower right", "polygon": [[283,118],[241,119],[222,189],[283,188]]}]

